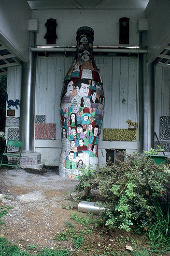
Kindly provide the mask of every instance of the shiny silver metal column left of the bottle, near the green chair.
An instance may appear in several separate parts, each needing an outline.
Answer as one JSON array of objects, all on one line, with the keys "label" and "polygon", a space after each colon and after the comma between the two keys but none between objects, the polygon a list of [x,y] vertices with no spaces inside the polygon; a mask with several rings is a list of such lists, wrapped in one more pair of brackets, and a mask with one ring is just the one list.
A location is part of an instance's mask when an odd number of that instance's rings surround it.
[{"label": "shiny silver metal column left of the bottle, near the green chair", "polygon": [[34,152],[35,127],[35,83],[37,53],[31,52],[36,45],[36,33],[29,31],[29,60],[22,64],[21,77],[21,110],[20,110],[20,140],[23,142],[23,152]]}]

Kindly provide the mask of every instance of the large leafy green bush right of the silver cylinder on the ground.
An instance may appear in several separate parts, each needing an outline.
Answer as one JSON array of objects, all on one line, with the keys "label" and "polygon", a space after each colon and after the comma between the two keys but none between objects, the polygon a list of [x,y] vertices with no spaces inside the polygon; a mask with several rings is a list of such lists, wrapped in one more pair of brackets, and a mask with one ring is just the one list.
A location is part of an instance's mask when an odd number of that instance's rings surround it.
[{"label": "large leafy green bush right of the silver cylinder on the ground", "polygon": [[148,230],[155,216],[152,202],[162,196],[163,182],[170,181],[170,168],[135,152],[125,157],[119,165],[107,162],[96,170],[84,170],[75,190],[84,192],[85,199],[92,188],[99,189],[105,204],[101,220],[109,229],[129,231],[135,225],[138,231]]}]

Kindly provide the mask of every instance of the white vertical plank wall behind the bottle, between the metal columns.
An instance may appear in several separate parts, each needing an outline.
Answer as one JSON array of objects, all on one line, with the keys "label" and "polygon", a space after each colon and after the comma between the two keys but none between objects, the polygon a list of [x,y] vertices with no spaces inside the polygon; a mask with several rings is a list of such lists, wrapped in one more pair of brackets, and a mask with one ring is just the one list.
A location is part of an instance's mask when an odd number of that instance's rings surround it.
[{"label": "white vertical plank wall behind the bottle, between the metal columns", "polygon": [[[64,77],[72,57],[39,57],[37,64],[36,115],[45,115],[46,123],[56,123],[56,140],[36,140],[35,150],[46,165],[58,165],[61,151],[59,101]],[[128,128],[127,119],[137,116],[137,58],[95,57],[103,79],[105,115],[103,128]],[[125,99],[125,102],[122,100]],[[104,142],[100,137],[100,163],[105,162],[105,148],[137,150],[137,142]],[[100,159],[100,157],[99,157]]]}]

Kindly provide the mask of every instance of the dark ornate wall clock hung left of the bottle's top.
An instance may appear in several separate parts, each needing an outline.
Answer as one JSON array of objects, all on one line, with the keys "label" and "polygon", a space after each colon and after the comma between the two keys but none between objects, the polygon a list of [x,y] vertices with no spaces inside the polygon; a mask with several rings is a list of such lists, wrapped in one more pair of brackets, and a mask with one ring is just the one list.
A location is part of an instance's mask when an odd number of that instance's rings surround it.
[{"label": "dark ornate wall clock hung left of the bottle's top", "polygon": [[56,44],[56,38],[57,38],[56,19],[53,19],[53,18],[47,19],[47,22],[45,23],[45,26],[47,27],[47,32],[46,32],[44,38],[46,39],[47,45]]}]

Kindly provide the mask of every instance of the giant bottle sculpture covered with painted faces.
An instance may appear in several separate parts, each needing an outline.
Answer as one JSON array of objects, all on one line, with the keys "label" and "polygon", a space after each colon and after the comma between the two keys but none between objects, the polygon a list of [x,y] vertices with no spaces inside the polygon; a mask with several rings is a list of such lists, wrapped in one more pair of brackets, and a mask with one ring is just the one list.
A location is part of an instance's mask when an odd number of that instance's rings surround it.
[{"label": "giant bottle sculpture covered with painted faces", "polygon": [[79,174],[98,163],[98,142],[104,114],[104,93],[93,57],[94,31],[77,30],[77,52],[64,79],[60,99],[62,151],[59,175]]}]

